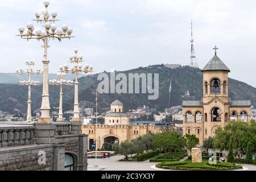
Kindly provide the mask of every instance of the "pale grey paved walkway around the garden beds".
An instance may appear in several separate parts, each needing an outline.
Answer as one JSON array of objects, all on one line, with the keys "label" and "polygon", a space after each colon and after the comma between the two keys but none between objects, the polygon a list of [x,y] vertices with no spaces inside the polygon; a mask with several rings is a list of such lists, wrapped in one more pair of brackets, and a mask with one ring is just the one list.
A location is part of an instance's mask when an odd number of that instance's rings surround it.
[{"label": "pale grey paved walkway around the garden beds", "polygon": [[[98,159],[98,167],[94,167],[95,159],[88,159],[88,171],[171,171],[168,169],[159,169],[155,167],[155,162],[149,162],[145,160],[144,162],[119,162],[117,160],[123,159],[123,156],[115,155],[111,156],[110,159]],[[187,157],[180,159],[183,161]],[[237,171],[256,171],[256,165],[242,164],[243,169],[238,169]],[[173,170],[172,170],[173,171]]]}]

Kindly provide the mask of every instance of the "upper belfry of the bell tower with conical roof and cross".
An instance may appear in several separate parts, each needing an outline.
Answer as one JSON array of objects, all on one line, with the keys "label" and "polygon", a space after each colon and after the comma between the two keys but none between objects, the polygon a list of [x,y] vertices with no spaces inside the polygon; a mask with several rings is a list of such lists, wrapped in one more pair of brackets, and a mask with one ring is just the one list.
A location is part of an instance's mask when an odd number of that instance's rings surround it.
[{"label": "upper belfry of the bell tower with conical roof and cross", "polygon": [[218,97],[223,102],[229,102],[228,73],[229,68],[217,56],[217,47],[214,48],[213,58],[202,69],[203,72],[203,102],[209,102]]}]

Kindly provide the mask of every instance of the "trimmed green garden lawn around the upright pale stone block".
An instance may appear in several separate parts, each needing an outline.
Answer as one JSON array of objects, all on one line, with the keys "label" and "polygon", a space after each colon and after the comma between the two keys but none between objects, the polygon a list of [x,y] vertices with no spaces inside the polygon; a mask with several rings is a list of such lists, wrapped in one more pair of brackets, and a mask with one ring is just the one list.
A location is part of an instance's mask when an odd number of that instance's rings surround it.
[{"label": "trimmed green garden lawn around the upright pale stone block", "polygon": [[192,163],[191,160],[185,160],[183,162],[163,162],[156,164],[156,167],[165,169],[178,169],[178,170],[227,170],[227,169],[239,169],[241,165],[233,163],[220,163],[209,164],[207,160],[203,160],[202,163]]}]

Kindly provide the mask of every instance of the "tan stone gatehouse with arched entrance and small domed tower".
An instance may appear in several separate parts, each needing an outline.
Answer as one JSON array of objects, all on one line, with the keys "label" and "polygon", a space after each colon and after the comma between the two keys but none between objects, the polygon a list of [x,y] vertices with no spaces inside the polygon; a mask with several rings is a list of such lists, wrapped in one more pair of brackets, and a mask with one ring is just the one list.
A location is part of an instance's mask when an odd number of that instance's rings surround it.
[{"label": "tan stone gatehouse with arched entrance and small domed tower", "polygon": [[120,143],[125,140],[133,140],[147,133],[159,133],[161,129],[155,125],[131,125],[129,116],[124,113],[122,102],[115,100],[110,105],[110,111],[104,116],[104,125],[83,125],[82,133],[88,135],[88,148],[97,139],[97,149],[104,143]]}]

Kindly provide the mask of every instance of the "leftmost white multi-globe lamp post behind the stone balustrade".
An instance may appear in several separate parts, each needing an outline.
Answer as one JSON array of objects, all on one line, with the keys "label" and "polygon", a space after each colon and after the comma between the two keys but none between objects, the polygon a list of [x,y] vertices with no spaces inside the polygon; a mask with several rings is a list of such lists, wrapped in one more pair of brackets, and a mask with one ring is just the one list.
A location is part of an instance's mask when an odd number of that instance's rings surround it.
[{"label": "leftmost white multi-globe lamp post behind the stone balustrade", "polygon": [[23,80],[19,81],[19,85],[22,86],[28,86],[28,100],[27,100],[27,121],[31,122],[32,121],[32,115],[31,115],[31,86],[38,86],[40,85],[39,81],[33,81],[31,80],[31,76],[36,74],[40,75],[42,71],[40,69],[36,69],[36,71],[33,70],[33,66],[35,65],[34,61],[26,61],[25,63],[28,68],[26,71],[23,69],[16,69],[16,73],[19,75],[27,74],[28,75],[28,80]]}]

